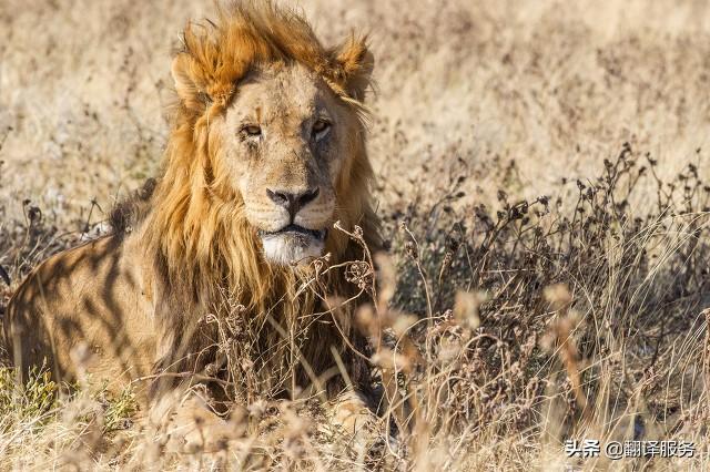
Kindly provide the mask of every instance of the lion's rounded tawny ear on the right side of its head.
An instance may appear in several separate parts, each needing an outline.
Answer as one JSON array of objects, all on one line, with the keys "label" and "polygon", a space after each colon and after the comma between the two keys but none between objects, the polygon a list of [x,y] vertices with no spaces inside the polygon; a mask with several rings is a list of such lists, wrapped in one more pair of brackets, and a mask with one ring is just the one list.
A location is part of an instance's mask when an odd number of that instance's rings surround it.
[{"label": "lion's rounded tawny ear on the right side of its head", "polygon": [[343,86],[347,94],[363,101],[375,66],[375,58],[367,49],[367,38],[352,35],[335,49],[334,60],[342,71]]}]

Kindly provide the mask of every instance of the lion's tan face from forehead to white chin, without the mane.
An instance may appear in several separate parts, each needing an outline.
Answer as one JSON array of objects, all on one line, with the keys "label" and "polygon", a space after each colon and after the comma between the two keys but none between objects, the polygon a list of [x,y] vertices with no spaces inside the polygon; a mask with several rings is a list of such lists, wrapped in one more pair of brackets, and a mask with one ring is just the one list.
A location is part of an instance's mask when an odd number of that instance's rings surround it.
[{"label": "lion's tan face from forehead to white chin, without the mane", "polygon": [[222,177],[242,196],[267,260],[323,254],[353,114],[298,64],[262,68],[240,83],[221,126]]}]

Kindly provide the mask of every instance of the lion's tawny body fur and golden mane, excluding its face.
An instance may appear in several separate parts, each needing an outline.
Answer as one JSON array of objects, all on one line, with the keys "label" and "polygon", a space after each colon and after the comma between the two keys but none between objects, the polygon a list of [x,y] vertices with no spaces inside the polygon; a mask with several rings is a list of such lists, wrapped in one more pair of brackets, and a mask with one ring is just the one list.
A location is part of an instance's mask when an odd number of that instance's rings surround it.
[{"label": "lion's tawny body fur and golden mane, excluding its face", "polygon": [[[261,386],[252,387],[278,393],[307,387],[314,373],[337,373],[335,349],[355,388],[367,389],[366,341],[352,328],[356,302],[336,316],[324,301],[363,295],[362,288],[346,280],[345,266],[316,277],[323,261],[284,267],[264,260],[244,199],[225,175],[224,137],[214,123],[240,82],[273,64],[306,68],[337,99],[348,129],[333,219],[348,229],[359,225],[369,250],[379,248],[363,123],[373,68],[364,39],[326,49],[292,11],[270,2],[232,4],[216,23],[185,30],[155,187],[116,209],[113,235],[42,264],[10,301],[6,339],[18,366],[27,370],[47,358],[58,376],[71,379],[78,374],[74,351],[85,343],[100,359],[100,374],[190,379],[185,372],[219,363],[219,324],[206,322],[209,316],[224,321],[236,312],[256,339],[250,361]],[[325,247],[334,266],[365,254],[333,228]],[[334,379],[326,382],[332,394],[344,387]]]}]

